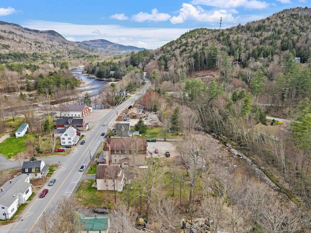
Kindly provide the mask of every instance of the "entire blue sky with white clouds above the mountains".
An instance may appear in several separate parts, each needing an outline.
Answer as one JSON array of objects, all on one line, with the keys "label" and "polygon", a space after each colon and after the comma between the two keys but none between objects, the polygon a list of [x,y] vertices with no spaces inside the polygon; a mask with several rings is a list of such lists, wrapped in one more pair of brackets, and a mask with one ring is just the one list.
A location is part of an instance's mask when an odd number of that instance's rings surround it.
[{"label": "entire blue sky with white clouds above the mountains", "polygon": [[0,20],[66,39],[156,49],[195,28],[222,29],[311,0],[0,0]]}]

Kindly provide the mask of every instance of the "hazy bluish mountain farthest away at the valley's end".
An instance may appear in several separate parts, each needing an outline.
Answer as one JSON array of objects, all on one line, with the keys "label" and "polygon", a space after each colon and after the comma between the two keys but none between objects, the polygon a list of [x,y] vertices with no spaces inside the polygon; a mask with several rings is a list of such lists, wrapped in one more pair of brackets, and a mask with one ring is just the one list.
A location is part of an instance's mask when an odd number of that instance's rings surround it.
[{"label": "hazy bluish mountain farthest away at the valley's end", "polygon": [[120,53],[120,54],[131,53],[132,51],[138,52],[140,50],[145,50],[144,48],[138,48],[138,47],[134,47],[134,46],[125,46],[125,45],[116,44],[116,43],[113,43],[113,42],[110,42],[110,41],[104,40],[104,39],[86,40],[86,41],[81,41],[81,42],[77,42],[77,43],[82,44],[86,47],[89,47],[93,50],[109,51],[109,52],[115,52],[115,53]]}]

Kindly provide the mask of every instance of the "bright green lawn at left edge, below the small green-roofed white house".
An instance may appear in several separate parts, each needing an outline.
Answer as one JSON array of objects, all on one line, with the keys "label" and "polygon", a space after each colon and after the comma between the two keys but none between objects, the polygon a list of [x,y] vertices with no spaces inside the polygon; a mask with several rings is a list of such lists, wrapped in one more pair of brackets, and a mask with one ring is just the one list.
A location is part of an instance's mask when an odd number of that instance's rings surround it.
[{"label": "bright green lawn at left edge, below the small green-roofed white house", "polygon": [[28,133],[24,137],[9,137],[4,142],[0,143],[0,154],[8,159],[14,157],[20,152],[27,150],[26,142],[35,140],[35,133]]}]

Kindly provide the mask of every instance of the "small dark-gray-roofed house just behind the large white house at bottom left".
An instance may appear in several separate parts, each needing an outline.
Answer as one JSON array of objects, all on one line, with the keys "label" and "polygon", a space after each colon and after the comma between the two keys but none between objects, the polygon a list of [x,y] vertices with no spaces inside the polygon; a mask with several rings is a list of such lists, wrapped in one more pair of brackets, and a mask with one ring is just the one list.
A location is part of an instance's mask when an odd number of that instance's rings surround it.
[{"label": "small dark-gray-roofed house just behind the large white house at bottom left", "polygon": [[23,174],[29,175],[29,178],[45,177],[49,172],[49,166],[45,165],[43,160],[25,161],[21,168]]}]

